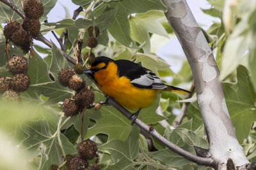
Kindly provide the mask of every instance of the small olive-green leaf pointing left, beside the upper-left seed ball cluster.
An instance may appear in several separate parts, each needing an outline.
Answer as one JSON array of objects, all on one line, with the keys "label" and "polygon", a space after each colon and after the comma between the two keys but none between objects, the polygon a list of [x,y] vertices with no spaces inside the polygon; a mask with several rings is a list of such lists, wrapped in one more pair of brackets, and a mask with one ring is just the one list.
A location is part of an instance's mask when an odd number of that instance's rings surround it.
[{"label": "small olive-green leaf pointing left, beside the upper-left seed ball cluster", "polygon": [[74,42],[78,39],[78,29],[76,27],[76,21],[72,19],[63,19],[59,22],[51,22],[51,23],[44,23],[45,26],[54,26],[54,29],[59,28],[67,28],[68,29],[68,39],[70,42]]}]

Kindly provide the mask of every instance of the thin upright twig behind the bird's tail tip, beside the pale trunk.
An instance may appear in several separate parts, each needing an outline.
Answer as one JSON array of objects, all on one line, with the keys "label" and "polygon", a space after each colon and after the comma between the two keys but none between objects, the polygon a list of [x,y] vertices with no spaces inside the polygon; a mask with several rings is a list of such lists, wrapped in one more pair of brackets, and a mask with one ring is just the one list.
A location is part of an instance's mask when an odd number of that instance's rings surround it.
[{"label": "thin upright twig behind the bird's tail tip, beside the pale trunk", "polygon": [[[191,87],[189,89],[189,91],[191,93],[188,93],[188,95],[186,95],[185,99],[191,98],[193,92],[195,91],[195,85],[194,85],[194,80],[192,81]],[[188,105],[189,102],[184,102],[182,104],[181,110],[180,110],[180,114],[177,116],[177,118],[175,119],[174,123],[173,123],[173,127],[176,128],[177,126],[180,125],[180,123],[182,122],[182,120],[187,116],[186,111],[188,109]]]}]

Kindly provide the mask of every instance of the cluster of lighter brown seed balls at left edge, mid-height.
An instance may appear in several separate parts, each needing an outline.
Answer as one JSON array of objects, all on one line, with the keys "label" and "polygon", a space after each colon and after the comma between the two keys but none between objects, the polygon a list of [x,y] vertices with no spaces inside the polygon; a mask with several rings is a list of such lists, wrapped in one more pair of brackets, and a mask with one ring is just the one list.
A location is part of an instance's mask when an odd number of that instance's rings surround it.
[{"label": "cluster of lighter brown seed balls at left edge, mid-height", "polygon": [[20,101],[19,93],[28,89],[30,81],[27,75],[28,59],[23,56],[13,56],[8,61],[12,77],[0,77],[0,93],[2,99]]}]

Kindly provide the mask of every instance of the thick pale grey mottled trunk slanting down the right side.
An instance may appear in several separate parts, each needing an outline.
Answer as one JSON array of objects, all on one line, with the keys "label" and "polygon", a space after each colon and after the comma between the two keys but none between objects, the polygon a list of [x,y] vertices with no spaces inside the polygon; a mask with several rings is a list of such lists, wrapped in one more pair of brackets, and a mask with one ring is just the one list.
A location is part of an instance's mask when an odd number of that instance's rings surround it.
[{"label": "thick pale grey mottled trunk slanting down the right side", "polygon": [[243,148],[237,141],[228,114],[220,71],[201,28],[196,23],[185,0],[162,0],[167,6],[168,22],[188,58],[195,79],[198,105],[209,141],[209,155],[225,168],[228,158],[236,166],[248,164]]}]

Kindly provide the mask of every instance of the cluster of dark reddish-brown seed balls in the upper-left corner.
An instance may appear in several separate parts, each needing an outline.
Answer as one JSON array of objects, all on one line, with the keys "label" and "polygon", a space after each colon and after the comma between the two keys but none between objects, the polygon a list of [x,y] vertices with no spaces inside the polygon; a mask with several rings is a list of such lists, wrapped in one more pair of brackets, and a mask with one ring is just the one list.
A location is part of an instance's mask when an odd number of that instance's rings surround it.
[{"label": "cluster of dark reddish-brown seed balls in the upper-left corner", "polygon": [[16,20],[14,22],[11,20],[4,26],[4,36],[6,40],[12,41],[14,45],[19,46],[24,53],[27,53],[33,43],[32,38],[36,38],[40,31],[39,19],[44,13],[44,8],[38,0],[27,0],[23,10],[25,19],[22,24]]}]

